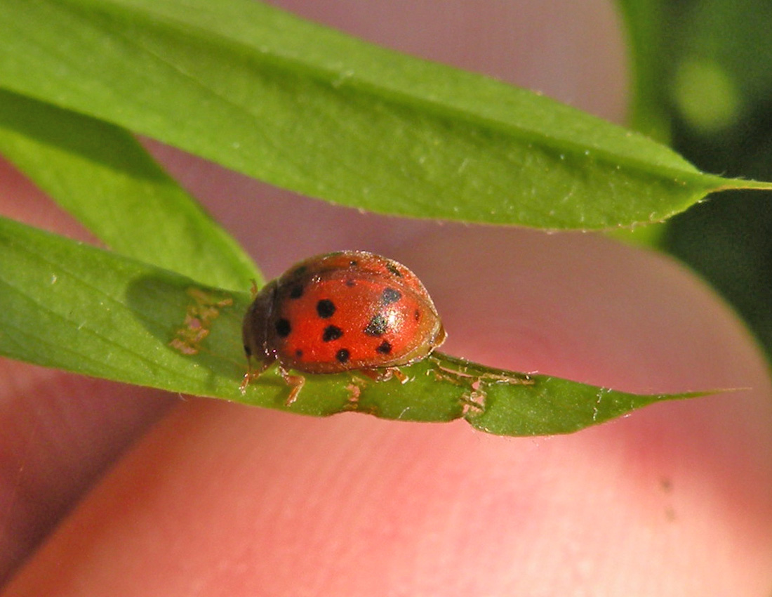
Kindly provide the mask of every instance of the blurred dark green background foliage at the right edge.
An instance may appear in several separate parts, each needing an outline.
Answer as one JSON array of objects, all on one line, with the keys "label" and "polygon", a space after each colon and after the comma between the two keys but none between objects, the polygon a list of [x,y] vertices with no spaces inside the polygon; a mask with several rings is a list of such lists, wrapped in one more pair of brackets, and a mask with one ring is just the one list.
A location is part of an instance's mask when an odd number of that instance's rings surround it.
[{"label": "blurred dark green background foliage at the right edge", "polygon": [[[772,178],[772,3],[621,0],[631,121],[706,171]],[[669,222],[665,249],[726,296],[772,354],[772,199],[735,191]]]}]

